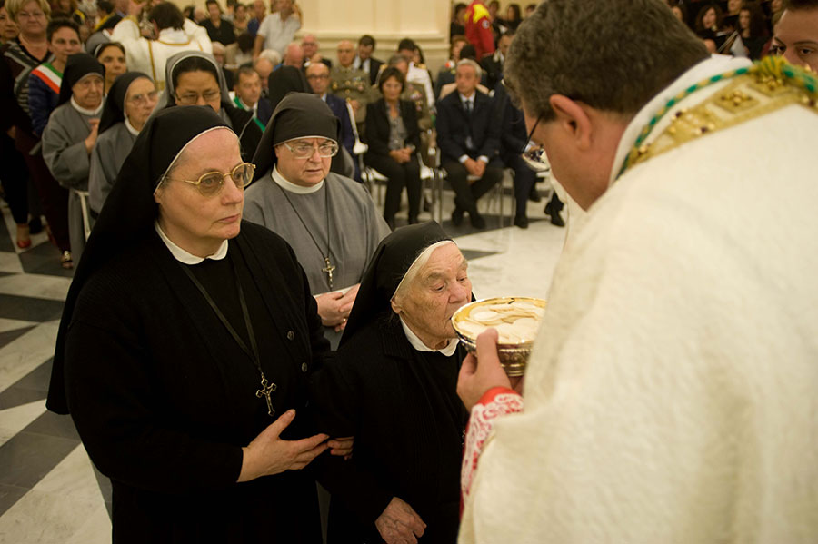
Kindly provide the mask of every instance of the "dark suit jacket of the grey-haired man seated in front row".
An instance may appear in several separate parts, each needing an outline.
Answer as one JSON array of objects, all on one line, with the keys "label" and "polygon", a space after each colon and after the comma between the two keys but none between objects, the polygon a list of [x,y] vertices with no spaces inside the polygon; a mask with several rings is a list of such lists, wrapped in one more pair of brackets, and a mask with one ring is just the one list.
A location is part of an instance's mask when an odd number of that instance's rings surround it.
[{"label": "dark suit jacket of the grey-haired man seated in front row", "polygon": [[[466,137],[472,136],[473,149],[467,149]],[[474,92],[474,111],[467,114],[454,92],[437,104],[437,144],[443,160],[457,161],[462,155],[472,159],[485,155],[492,163],[500,151],[500,126],[495,122],[491,98]]]}]

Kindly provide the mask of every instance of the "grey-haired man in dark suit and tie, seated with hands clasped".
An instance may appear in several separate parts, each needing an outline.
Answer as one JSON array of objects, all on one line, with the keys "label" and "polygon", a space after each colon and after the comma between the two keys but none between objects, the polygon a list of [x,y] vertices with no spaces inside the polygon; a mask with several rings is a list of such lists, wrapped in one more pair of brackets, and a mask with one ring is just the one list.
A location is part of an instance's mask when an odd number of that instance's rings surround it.
[{"label": "grey-haired man in dark suit and tie, seated with hands clasped", "polygon": [[477,90],[480,75],[480,65],[473,60],[458,62],[454,73],[457,92],[437,104],[441,165],[456,194],[452,223],[462,223],[463,213],[468,212],[472,226],[478,229],[485,227],[485,220],[477,212],[477,200],[503,176],[500,126],[491,98]]}]

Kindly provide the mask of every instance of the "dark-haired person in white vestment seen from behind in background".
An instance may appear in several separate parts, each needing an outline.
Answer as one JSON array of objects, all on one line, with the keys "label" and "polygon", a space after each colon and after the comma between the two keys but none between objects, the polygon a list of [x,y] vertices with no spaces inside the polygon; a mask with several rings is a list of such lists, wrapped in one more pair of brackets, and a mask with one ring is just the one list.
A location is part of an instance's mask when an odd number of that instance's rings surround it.
[{"label": "dark-haired person in white vestment seen from behind in background", "polygon": [[204,26],[185,18],[170,2],[156,5],[149,15],[156,39],[142,36],[133,17],[126,17],[115,26],[112,42],[125,46],[128,70],[148,74],[156,88],[165,90],[165,63],[181,51],[213,53],[213,44]]}]

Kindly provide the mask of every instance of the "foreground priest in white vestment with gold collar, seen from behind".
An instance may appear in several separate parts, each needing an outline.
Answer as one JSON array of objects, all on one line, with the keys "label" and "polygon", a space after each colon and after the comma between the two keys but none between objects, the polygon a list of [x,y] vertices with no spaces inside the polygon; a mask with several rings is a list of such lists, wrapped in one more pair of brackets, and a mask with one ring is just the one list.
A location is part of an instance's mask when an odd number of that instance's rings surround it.
[{"label": "foreground priest in white vestment with gold collar, seen from behind", "polygon": [[814,74],[550,0],[504,77],[588,216],[523,395],[491,332],[464,361],[459,541],[818,541]]}]

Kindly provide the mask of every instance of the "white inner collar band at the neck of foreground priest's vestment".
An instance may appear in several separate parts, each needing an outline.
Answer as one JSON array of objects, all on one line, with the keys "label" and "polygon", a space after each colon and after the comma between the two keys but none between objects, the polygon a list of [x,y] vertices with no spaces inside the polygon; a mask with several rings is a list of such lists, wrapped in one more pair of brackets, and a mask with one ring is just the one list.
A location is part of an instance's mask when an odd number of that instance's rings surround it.
[{"label": "white inner collar band at the neck of foreground priest's vestment", "polygon": [[[737,68],[742,68],[751,64],[752,63],[746,58],[734,58],[733,56],[724,54],[713,54],[710,58],[694,65],[693,68],[682,74],[672,84],[669,84],[662,91],[660,91],[659,94],[656,94],[650,102],[645,104],[644,107],[639,110],[639,113],[633,117],[631,123],[628,124],[627,128],[625,128],[622,134],[622,139],[619,141],[619,147],[616,150],[616,155],[613,159],[613,168],[611,169],[611,174],[608,178],[608,184],[610,185],[616,180],[616,177],[619,175],[619,171],[622,170],[625,157],[628,156],[628,153],[631,153],[633,143],[642,132],[642,129],[651,122],[653,115],[658,113],[659,110],[661,110],[664,105],[667,104],[671,98],[673,98],[673,96],[680,94],[684,89],[708,79],[713,75],[724,74],[725,72],[730,72]],[[663,115],[663,118],[659,121],[659,123],[653,127],[651,136],[645,140],[645,143],[652,142],[653,138],[659,134],[662,134],[662,131],[673,120],[674,112],[682,108],[690,107],[690,104],[698,104],[702,102],[703,97],[710,96],[710,94],[715,93],[718,89],[722,88],[729,82],[730,80],[724,80],[723,82],[719,82],[717,84],[711,84],[703,88],[703,94],[693,93],[685,97],[683,100],[677,102],[672,109],[668,110],[667,113]]]}]

